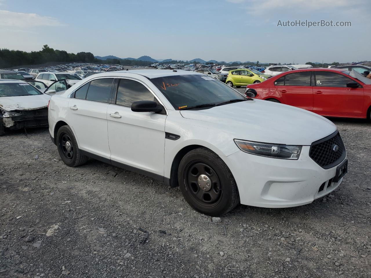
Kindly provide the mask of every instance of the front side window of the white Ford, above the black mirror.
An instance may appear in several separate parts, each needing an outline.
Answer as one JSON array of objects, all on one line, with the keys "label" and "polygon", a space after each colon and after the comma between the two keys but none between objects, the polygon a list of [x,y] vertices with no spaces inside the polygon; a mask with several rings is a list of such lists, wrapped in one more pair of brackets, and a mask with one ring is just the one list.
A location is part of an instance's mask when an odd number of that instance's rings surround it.
[{"label": "front side window of the white Ford, above the black mirror", "polygon": [[116,97],[117,105],[131,107],[133,102],[154,99],[154,95],[143,84],[131,79],[120,79]]}]

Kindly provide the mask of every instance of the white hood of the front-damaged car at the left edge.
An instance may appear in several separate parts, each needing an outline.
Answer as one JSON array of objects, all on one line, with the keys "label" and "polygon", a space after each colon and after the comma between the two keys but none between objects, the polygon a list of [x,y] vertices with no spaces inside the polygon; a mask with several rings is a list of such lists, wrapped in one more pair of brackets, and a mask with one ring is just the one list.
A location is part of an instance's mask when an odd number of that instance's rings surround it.
[{"label": "white hood of the front-damaged car at the left edge", "polygon": [[34,95],[34,96],[12,96],[0,97],[0,108],[12,110],[35,110],[46,107],[49,102],[50,96]]}]

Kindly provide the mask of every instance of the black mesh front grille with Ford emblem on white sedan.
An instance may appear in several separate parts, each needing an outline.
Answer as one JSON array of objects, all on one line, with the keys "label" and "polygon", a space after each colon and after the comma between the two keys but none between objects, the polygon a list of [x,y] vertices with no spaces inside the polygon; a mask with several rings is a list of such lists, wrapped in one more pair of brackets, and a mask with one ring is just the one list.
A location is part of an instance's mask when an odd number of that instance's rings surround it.
[{"label": "black mesh front grille with Ford emblem on white sedan", "polygon": [[[334,151],[334,146],[338,146],[337,151]],[[345,155],[345,146],[338,131],[313,142],[309,150],[309,156],[324,169],[338,165],[344,160]]]}]

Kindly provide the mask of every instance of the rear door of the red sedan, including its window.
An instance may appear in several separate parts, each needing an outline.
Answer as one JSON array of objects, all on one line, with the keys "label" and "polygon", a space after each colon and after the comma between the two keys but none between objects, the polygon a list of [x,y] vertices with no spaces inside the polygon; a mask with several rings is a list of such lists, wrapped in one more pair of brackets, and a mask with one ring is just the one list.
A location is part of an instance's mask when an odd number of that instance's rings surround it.
[{"label": "rear door of the red sedan, including its window", "polygon": [[311,72],[296,72],[282,76],[274,82],[283,102],[313,111]]}]

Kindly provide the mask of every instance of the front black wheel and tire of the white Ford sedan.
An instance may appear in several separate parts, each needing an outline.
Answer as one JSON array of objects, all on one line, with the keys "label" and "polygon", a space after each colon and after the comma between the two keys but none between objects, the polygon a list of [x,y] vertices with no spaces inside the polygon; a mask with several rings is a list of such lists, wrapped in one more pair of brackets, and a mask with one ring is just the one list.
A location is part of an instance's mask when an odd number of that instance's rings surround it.
[{"label": "front black wheel and tire of the white Ford sedan", "polygon": [[184,199],[203,214],[223,215],[240,203],[236,181],[228,166],[209,149],[197,148],[182,158],[178,182]]}]

